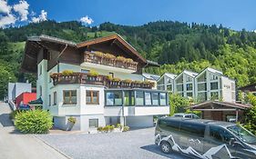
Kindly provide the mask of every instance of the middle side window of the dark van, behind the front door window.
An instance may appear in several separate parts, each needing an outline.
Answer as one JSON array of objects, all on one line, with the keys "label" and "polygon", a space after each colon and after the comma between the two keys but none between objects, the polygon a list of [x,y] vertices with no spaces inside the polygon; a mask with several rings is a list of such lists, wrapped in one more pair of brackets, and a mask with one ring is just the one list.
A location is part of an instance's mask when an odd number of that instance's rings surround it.
[{"label": "middle side window of the dark van, behind the front door window", "polygon": [[192,124],[189,122],[181,122],[179,130],[180,130],[180,132],[182,132],[184,134],[192,134],[192,135],[197,135],[199,137],[204,137],[205,125],[204,124]]}]

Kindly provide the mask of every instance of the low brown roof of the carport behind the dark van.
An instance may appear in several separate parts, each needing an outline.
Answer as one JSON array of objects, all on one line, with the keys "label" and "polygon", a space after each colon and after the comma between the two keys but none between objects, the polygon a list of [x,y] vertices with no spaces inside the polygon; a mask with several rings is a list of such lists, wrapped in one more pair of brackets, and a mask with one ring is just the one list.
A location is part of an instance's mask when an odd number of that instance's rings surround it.
[{"label": "low brown roof of the carport behind the dark van", "polygon": [[248,109],[251,107],[251,104],[237,104],[237,103],[231,103],[231,102],[220,102],[220,101],[205,101],[200,104],[193,104],[190,106],[190,109],[203,109],[207,106],[210,106],[212,104],[232,107],[232,108],[238,108],[238,109]]}]

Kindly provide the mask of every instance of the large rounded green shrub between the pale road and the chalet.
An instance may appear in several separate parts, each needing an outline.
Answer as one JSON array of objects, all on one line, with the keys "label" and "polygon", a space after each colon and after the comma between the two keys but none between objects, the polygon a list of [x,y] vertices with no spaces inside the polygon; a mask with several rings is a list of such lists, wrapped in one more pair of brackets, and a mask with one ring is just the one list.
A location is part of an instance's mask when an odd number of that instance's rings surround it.
[{"label": "large rounded green shrub between the pale road and the chalet", "polygon": [[24,111],[15,115],[15,127],[23,133],[45,134],[52,126],[52,117],[46,111]]}]

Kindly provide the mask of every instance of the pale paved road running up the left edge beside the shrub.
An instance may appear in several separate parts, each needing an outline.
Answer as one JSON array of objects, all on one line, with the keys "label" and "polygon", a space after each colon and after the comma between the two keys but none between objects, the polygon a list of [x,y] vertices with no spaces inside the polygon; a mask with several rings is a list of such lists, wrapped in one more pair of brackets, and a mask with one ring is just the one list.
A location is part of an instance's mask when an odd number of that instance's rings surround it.
[{"label": "pale paved road running up the left edge beside the shrub", "polygon": [[0,102],[0,159],[65,159],[33,134],[19,134],[9,120],[9,105]]}]

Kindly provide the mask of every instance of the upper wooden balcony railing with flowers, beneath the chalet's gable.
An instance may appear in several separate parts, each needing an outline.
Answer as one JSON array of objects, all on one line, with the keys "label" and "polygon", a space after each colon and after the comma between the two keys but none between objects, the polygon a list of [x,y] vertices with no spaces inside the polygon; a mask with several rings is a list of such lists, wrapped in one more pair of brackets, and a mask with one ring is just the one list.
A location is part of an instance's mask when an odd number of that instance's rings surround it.
[{"label": "upper wooden balcony railing with flowers, beneath the chalet's gable", "polygon": [[129,58],[125,57],[116,57],[115,55],[104,54],[101,52],[85,52],[84,57],[85,62],[93,63],[98,65],[108,65],[118,68],[137,70],[137,62],[132,61]]}]

